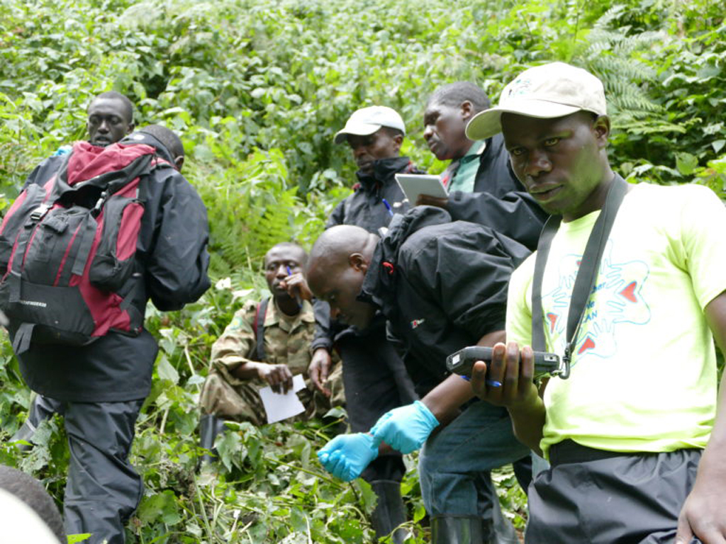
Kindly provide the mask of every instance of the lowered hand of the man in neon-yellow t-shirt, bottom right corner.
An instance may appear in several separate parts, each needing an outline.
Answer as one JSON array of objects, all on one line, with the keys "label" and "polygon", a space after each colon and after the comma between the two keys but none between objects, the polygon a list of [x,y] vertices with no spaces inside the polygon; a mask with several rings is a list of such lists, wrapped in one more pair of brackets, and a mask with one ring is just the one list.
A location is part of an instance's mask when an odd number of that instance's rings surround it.
[{"label": "lowered hand of the man in neon-yellow t-shirt, bottom right corner", "polygon": [[[707,455],[704,453],[701,458],[696,484],[678,516],[675,544],[690,544],[696,537],[703,544],[726,542],[726,519],[723,515],[726,474],[709,474],[713,459],[704,459]],[[718,455],[721,456],[722,452]],[[723,471],[719,469],[717,472]]]}]

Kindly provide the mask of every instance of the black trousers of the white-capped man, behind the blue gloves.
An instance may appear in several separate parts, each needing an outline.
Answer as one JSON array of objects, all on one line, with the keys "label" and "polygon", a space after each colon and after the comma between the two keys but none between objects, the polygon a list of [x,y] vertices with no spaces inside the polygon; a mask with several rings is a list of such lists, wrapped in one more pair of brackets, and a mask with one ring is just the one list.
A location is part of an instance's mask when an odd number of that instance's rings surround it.
[{"label": "black trousers of the white-capped man, behind the blue gloves", "polygon": [[[386,339],[383,327],[361,336],[348,334],[336,347],[343,360],[348,423],[353,432],[367,432],[387,411],[417,400],[404,362]],[[400,482],[405,472],[401,454],[391,452],[370,463],[362,478]]]}]

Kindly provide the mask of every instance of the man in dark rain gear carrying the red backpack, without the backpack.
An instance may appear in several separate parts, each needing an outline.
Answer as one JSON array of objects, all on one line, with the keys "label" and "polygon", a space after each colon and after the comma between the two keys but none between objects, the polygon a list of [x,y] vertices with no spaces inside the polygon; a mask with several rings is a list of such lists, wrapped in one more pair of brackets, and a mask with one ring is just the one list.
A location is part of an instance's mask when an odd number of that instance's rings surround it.
[{"label": "man in dark rain gear carrying the red backpack, without the backpack", "polygon": [[[184,149],[168,128],[148,126],[120,144],[149,145],[166,161],[142,180],[147,198],[134,257],[137,274],[130,280],[136,287],[125,285],[122,292],[140,316],[148,300],[159,310],[179,310],[210,284],[205,207],[179,173]],[[28,183],[44,181],[36,176]],[[17,325],[8,328],[13,337]],[[18,356],[30,389],[52,399],[64,416],[70,449],[65,530],[91,533],[90,544],[123,544],[124,525],[142,498],[142,479],[129,453],[157,353],[155,339],[142,329],[138,336],[111,331],[84,346],[38,344],[31,338],[29,349]]]}]

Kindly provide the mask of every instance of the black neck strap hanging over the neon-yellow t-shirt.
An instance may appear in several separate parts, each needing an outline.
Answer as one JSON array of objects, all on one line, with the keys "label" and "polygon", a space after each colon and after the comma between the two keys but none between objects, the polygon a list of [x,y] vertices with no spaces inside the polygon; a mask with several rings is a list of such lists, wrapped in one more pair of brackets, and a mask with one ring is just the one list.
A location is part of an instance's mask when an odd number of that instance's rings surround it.
[{"label": "black neck strap hanging over the neon-yellow t-shirt", "polygon": [[[595,287],[597,270],[600,268],[600,260],[603,258],[605,242],[608,240],[618,208],[623,202],[627,190],[628,184],[618,174],[615,174],[608,190],[608,197],[605,199],[605,205],[600,211],[600,217],[595,221],[595,226],[592,227],[590,237],[587,239],[585,252],[582,255],[575,285],[572,289],[570,309],[567,316],[565,354],[562,358],[564,368],[558,374],[562,379],[567,379],[570,376],[570,361],[577,340],[577,331],[585,314],[587,299],[590,298],[590,293]],[[550,254],[552,239],[557,234],[561,219],[560,215],[551,215],[547,219],[547,223],[544,223],[542,234],[539,235],[539,242],[537,243],[531,301],[532,349],[535,351],[546,351],[544,345],[544,310],[542,310],[542,278],[544,277],[544,266],[547,265],[547,257]]]}]

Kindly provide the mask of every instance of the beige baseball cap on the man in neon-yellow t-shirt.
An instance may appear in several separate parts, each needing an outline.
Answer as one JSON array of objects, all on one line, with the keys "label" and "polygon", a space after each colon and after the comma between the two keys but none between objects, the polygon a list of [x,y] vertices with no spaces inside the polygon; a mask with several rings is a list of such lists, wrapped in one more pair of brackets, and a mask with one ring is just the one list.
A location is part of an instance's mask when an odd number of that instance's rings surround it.
[{"label": "beige baseball cap on the man in neon-yellow t-shirt", "polygon": [[502,112],[552,119],[581,110],[607,115],[602,81],[582,68],[550,62],[524,70],[509,83],[496,107],[471,118],[466,137],[484,140],[501,132]]}]

